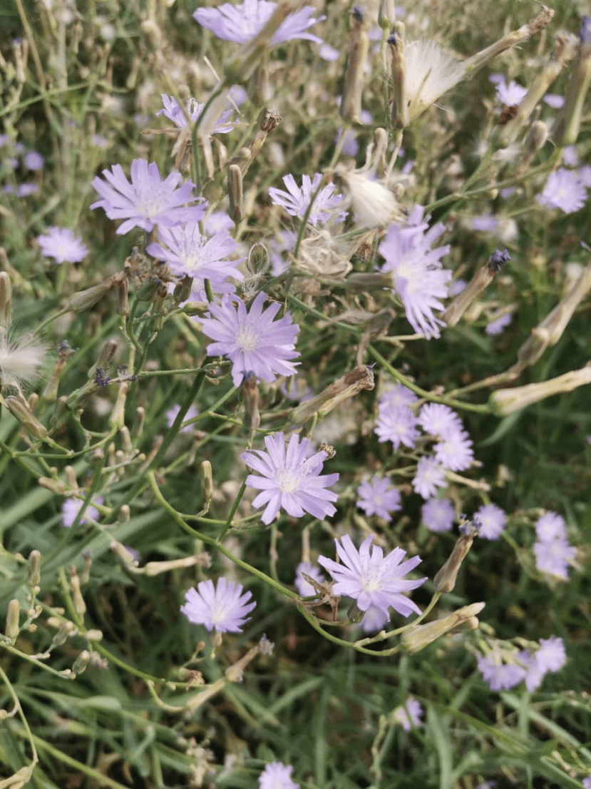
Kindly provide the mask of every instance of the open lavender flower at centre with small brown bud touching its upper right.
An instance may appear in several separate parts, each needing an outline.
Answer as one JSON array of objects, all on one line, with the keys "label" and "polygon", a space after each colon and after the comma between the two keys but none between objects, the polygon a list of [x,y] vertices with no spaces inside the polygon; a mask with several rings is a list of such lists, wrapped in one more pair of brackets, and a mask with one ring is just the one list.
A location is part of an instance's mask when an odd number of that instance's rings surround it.
[{"label": "open lavender flower at centre with small brown bud touching its upper right", "polygon": [[261,476],[249,474],[246,483],[261,493],[252,506],[266,505],[261,516],[263,523],[270,523],[279,510],[285,510],[293,518],[301,518],[306,512],[314,518],[333,515],[336,508],[330,502],[337,495],[327,490],[339,478],[338,474],[322,474],[326,460],[324,451],[314,452],[308,439],[295,433],[290,437],[287,449],[283,433],[265,436],[264,450],[243,452],[240,457],[253,471]]}]

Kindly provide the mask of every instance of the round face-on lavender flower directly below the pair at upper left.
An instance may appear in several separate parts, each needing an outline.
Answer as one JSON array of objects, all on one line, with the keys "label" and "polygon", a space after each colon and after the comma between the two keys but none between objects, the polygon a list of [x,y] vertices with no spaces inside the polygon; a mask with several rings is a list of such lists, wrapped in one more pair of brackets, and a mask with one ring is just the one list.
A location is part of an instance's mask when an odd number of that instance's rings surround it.
[{"label": "round face-on lavender flower directly below the pair at upper left", "polygon": [[199,320],[203,333],[215,340],[207,346],[207,355],[227,356],[232,361],[236,387],[249,372],[264,381],[274,381],[277,375],[292,376],[299,364],[289,361],[299,357],[298,324],[292,323],[290,312],[273,321],[281,305],[275,302],[263,312],[265,301],[266,294],[261,291],[247,311],[240,299],[223,296],[221,305],[210,304],[211,317]]}]

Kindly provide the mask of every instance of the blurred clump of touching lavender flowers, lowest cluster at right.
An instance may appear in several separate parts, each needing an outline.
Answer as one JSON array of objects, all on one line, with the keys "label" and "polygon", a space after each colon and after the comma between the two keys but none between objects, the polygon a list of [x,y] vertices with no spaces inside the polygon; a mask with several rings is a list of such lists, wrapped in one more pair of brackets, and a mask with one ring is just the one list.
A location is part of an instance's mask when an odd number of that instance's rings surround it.
[{"label": "blurred clump of touching lavender flowers, lowest cluster at right", "polygon": [[509,690],[525,680],[530,692],[536,690],[544,676],[555,674],[567,662],[562,638],[541,638],[535,652],[522,649],[509,653],[496,646],[488,655],[478,656],[478,671],[491,690]]}]

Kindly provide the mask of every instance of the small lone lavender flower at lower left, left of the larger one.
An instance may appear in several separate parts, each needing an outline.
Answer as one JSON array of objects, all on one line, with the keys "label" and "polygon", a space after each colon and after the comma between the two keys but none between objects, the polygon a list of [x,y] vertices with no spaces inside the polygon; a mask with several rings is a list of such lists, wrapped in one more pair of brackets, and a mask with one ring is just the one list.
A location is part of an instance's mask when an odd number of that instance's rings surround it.
[{"label": "small lone lavender flower at lower left, left of the larger one", "polygon": [[185,604],[180,611],[194,625],[204,625],[217,633],[241,633],[243,624],[250,619],[248,614],[256,603],[249,603],[252,594],[243,593],[243,585],[226,581],[200,581],[197,589],[191,587],[185,593]]}]

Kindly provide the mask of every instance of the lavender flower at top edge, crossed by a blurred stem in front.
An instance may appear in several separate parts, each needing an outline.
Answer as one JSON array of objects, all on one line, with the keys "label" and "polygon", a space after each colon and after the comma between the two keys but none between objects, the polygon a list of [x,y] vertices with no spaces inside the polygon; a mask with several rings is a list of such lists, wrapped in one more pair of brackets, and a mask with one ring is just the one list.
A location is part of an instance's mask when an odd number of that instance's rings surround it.
[{"label": "lavender flower at top edge, crossed by a blurred stem in front", "polygon": [[[276,7],[277,3],[269,0],[243,0],[240,6],[232,6],[225,2],[217,8],[198,8],[193,13],[193,19],[203,28],[214,33],[218,39],[245,44],[262,31]],[[303,6],[296,13],[288,14],[273,33],[271,43],[281,44],[293,39],[308,39],[322,43],[322,39],[318,36],[307,32],[313,24],[325,18],[315,19],[310,16],[314,10],[312,6]]]}]

